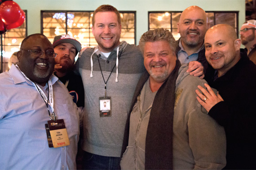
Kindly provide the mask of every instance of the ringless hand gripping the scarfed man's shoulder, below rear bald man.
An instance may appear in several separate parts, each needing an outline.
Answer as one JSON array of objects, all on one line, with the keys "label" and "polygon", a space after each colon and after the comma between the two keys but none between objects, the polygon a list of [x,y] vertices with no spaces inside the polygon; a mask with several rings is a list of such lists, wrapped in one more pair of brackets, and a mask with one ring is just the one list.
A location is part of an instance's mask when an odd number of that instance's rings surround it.
[{"label": "ringless hand gripping the scarfed man's shoulder, below rear bald man", "polygon": [[191,76],[198,76],[200,79],[204,77],[203,65],[198,61],[190,61],[187,72],[190,72]]}]

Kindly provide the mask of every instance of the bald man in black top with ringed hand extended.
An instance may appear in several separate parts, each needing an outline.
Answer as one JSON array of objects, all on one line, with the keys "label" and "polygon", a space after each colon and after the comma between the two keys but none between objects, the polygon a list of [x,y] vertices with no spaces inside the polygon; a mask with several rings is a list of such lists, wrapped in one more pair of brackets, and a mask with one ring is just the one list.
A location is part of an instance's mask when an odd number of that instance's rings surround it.
[{"label": "bald man in black top with ringed hand extended", "polygon": [[220,24],[205,35],[206,89],[199,103],[225,128],[227,165],[225,169],[256,169],[256,65],[240,49],[234,28]]}]

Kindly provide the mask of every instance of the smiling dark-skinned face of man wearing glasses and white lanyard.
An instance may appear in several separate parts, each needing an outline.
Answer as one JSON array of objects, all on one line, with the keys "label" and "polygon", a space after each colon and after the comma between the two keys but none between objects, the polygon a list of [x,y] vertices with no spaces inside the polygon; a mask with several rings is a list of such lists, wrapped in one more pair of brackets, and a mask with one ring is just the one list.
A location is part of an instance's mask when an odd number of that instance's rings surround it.
[{"label": "smiling dark-skinned face of man wearing glasses and white lanyard", "polygon": [[31,80],[40,85],[45,85],[53,73],[54,58],[49,58],[45,54],[34,56],[27,50],[37,50],[42,52],[54,52],[53,45],[48,38],[43,35],[32,35],[22,44],[22,51],[18,51],[20,70]]}]

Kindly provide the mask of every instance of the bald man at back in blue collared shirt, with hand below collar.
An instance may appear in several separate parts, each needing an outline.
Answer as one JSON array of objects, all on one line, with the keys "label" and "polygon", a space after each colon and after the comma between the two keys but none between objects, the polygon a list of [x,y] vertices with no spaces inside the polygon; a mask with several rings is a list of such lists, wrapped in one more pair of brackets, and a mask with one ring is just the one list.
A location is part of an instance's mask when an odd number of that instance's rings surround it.
[{"label": "bald man at back in blue collared shirt, with hand below collar", "polygon": [[177,23],[181,38],[176,41],[176,55],[181,64],[188,64],[190,75],[204,77],[207,61],[204,55],[204,35],[209,28],[206,13],[198,6],[190,6],[181,13]]}]

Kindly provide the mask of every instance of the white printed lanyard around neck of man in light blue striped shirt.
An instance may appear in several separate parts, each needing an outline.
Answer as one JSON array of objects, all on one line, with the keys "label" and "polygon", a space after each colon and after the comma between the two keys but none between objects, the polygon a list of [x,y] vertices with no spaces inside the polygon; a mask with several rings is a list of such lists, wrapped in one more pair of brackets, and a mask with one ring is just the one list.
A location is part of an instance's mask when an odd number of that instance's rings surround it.
[{"label": "white printed lanyard around neck of man in light blue striped shirt", "polygon": [[[18,68],[18,66],[16,65],[16,67]],[[18,68],[19,69],[19,68]],[[20,69],[19,69],[20,70]],[[28,80],[28,81],[31,81],[21,70],[20,72],[22,73],[22,75]],[[48,81],[48,89],[49,89],[49,92],[48,92],[48,97],[46,97],[44,91],[37,85],[35,84],[33,81],[31,81],[35,87],[36,87],[36,90],[38,91],[38,93],[40,93],[41,97],[44,99],[44,103],[46,104],[46,107],[47,107],[47,110],[48,110],[48,113],[49,113],[49,118],[50,120],[56,120],[56,115],[54,113],[54,109],[53,109],[53,85],[52,85],[52,81],[51,79],[49,79]],[[50,99],[50,100],[49,100]],[[51,115],[50,114],[50,111],[49,111],[49,107],[48,105],[51,107],[51,110],[53,112],[53,114]]]}]

